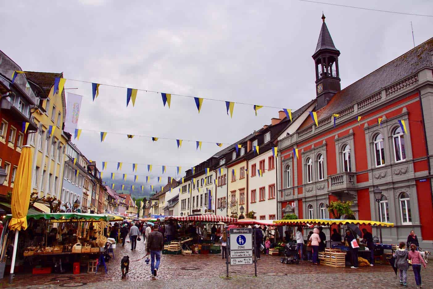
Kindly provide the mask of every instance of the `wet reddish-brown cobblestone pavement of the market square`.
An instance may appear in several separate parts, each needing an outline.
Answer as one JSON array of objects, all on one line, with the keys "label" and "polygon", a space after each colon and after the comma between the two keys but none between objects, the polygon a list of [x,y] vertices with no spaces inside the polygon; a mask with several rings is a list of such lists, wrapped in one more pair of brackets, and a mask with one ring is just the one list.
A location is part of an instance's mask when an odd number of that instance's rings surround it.
[{"label": "wet reddish-brown cobblestone pavement of the market square", "polygon": [[[126,279],[121,279],[120,260],[128,255],[130,260],[129,273]],[[134,288],[137,286],[153,288],[216,288],[230,286],[231,288],[276,288],[281,286],[296,286],[296,288],[330,288],[344,286],[347,288],[400,288],[398,279],[389,265],[377,265],[368,268],[350,269],[333,268],[329,266],[312,265],[304,261],[301,264],[281,264],[279,257],[262,256],[258,261],[257,276],[254,277],[254,266],[229,266],[229,276],[226,277],[225,262],[218,255],[162,255],[161,267],[157,279],[150,276],[150,265],[144,259],[143,242],[137,249],[131,251],[129,244],[115,249],[115,259],[107,263],[108,273],[103,268],[97,274],[49,274],[31,275],[17,274],[12,285],[7,284],[7,276],[2,280],[2,287],[9,288],[58,288],[75,287],[98,289]],[[432,266],[433,262],[430,262]],[[433,269],[421,270],[423,288],[433,288]],[[87,272],[87,267],[81,270]],[[407,273],[409,288],[415,288],[414,273]]]}]

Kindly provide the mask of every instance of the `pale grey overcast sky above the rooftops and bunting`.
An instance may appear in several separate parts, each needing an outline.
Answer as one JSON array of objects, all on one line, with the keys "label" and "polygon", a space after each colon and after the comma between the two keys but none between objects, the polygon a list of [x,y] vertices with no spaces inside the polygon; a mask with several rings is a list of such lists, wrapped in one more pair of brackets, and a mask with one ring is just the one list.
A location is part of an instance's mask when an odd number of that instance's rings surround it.
[{"label": "pale grey overcast sky above the rooftops and bunting", "polygon": [[[327,1],[327,0],[323,0]],[[432,2],[329,2],[426,14]],[[340,50],[342,88],[432,37],[433,18],[357,10],[297,0],[286,1],[2,1],[1,50],[24,70],[61,72],[65,78],[297,109],[315,97],[314,65],[322,10]],[[215,143],[126,139],[141,134],[174,139],[234,143],[270,123],[278,110],[235,104],[233,119],[223,102],[204,101],[200,114],[192,98],[138,92],[126,107],[126,89],[67,81],[83,95],[74,143],[88,159],[167,166],[194,166],[216,153]],[[100,143],[99,132],[108,133]],[[225,146],[223,146],[225,147]],[[147,170],[139,165],[139,180]],[[154,166],[153,175],[162,175]],[[132,167],[123,164],[121,173]],[[143,176],[141,176],[143,175]],[[164,174],[175,176],[175,168]],[[155,179],[153,179],[155,180]],[[154,185],[157,185],[153,181]],[[146,187],[147,188],[147,187]]]}]

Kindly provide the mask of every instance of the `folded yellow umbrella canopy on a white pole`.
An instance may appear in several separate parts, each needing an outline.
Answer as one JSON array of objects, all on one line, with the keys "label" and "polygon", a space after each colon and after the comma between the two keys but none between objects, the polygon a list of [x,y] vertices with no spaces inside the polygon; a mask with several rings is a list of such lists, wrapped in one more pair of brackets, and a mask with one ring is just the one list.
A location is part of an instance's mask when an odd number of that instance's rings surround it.
[{"label": "folded yellow umbrella canopy on a white pole", "polygon": [[26,215],[32,191],[32,154],[31,146],[23,146],[12,190],[10,230],[27,229]]}]

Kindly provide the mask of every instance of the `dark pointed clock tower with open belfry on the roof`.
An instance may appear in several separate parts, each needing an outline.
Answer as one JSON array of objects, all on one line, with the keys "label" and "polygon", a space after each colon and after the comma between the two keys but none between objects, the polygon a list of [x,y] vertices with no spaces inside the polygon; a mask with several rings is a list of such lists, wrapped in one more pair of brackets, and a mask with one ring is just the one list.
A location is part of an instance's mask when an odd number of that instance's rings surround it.
[{"label": "dark pointed clock tower with open belfry on the roof", "polygon": [[322,29],[320,29],[316,51],[312,56],[316,67],[316,110],[326,106],[333,95],[341,90],[338,68],[340,52],[335,48],[328,27],[326,27],[323,13],[322,20]]}]

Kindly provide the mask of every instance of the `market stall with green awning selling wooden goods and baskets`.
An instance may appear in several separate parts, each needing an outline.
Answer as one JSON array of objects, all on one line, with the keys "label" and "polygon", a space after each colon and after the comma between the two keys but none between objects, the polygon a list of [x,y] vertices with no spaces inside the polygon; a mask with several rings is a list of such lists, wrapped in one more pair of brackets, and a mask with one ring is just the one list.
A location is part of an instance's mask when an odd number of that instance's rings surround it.
[{"label": "market stall with green awning selling wooden goods and baskets", "polygon": [[[11,215],[5,220],[9,221]],[[73,268],[74,273],[80,266],[93,266],[103,255],[107,237],[103,231],[110,221],[123,221],[123,218],[110,214],[81,213],[41,213],[27,214],[28,227],[19,233],[17,246],[13,246],[14,231],[7,226],[1,237],[0,264],[10,263],[16,252],[20,271],[32,270],[33,274],[63,273]],[[23,266],[26,264],[26,266]],[[30,266],[29,266],[30,265]]]}]

